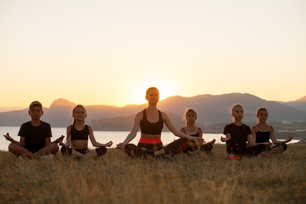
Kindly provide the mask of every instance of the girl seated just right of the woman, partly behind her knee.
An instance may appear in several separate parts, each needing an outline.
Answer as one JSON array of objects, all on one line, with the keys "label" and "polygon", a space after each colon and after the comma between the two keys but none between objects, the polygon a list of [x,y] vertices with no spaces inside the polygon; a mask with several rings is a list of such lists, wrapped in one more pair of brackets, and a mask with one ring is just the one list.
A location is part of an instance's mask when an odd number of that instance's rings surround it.
[{"label": "girl seated just right of the woman, partly behind her knee", "polygon": [[[198,136],[202,138],[202,129],[195,125],[197,120],[197,112],[194,109],[186,109],[184,115],[186,120],[186,126],[181,128],[179,131],[190,136]],[[200,151],[205,152],[206,154],[212,154],[211,151],[213,149],[213,144],[215,143],[215,141],[216,139],[213,139],[210,142],[201,142],[198,144],[193,141],[189,141],[189,146],[184,149],[183,152],[188,155],[199,154]]]}]

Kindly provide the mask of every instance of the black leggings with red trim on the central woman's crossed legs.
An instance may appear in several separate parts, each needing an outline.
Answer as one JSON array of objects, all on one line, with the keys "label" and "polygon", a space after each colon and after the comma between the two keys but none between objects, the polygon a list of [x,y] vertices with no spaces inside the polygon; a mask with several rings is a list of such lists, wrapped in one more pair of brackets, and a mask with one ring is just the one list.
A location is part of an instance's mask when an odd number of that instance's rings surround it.
[{"label": "black leggings with red trim on the central woman's crossed legs", "polygon": [[177,153],[181,152],[182,150],[186,149],[188,145],[189,145],[188,139],[181,138],[171,142],[166,147],[163,147],[163,143],[157,143],[157,144],[138,143],[137,146],[134,144],[127,144],[124,147],[124,152],[130,157],[142,158],[146,157],[146,151],[144,151],[141,148],[152,149],[154,151],[164,149],[166,155],[174,156]]}]

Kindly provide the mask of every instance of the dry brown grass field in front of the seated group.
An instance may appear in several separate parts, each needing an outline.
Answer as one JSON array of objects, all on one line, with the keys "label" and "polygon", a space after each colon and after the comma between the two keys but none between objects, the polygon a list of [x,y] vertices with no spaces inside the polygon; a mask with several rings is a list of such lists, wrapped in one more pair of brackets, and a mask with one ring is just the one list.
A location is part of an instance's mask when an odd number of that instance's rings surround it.
[{"label": "dry brown grass field in front of the seated group", "polygon": [[0,151],[1,204],[303,204],[306,145],[289,144],[274,157],[176,155],[131,159],[108,149],[98,159],[19,160]]}]

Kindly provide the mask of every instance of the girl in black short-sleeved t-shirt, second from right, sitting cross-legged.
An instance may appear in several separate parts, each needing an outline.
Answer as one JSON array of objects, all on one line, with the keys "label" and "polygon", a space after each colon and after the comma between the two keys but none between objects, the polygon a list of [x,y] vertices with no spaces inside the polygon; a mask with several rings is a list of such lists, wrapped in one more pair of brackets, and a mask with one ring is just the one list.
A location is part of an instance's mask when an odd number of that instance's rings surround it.
[{"label": "girl in black short-sleeved t-shirt, second from right, sitting cross-legged", "polygon": [[[258,156],[267,151],[271,142],[254,143],[251,128],[242,123],[244,108],[241,104],[235,104],[231,108],[234,122],[224,127],[221,141],[226,142],[226,159],[239,159],[242,156]],[[247,145],[248,143],[248,145]]]}]

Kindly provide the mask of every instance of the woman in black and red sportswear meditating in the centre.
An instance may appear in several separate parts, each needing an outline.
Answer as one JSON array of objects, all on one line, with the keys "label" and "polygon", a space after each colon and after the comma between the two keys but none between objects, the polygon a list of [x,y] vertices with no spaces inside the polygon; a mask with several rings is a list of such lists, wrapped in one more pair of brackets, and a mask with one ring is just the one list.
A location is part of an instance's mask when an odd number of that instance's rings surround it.
[{"label": "woman in black and red sportswear meditating in the centre", "polygon": [[[188,147],[188,140],[193,140],[196,143],[203,141],[200,137],[193,137],[179,132],[172,124],[169,116],[157,109],[159,91],[155,87],[151,87],[147,90],[146,99],[149,103],[148,108],[136,114],[131,133],[122,143],[117,144],[117,147],[119,149],[124,149],[127,155],[138,158],[146,158],[148,155],[152,157],[162,155],[173,156]],[[166,147],[163,147],[161,141],[161,130],[163,129],[164,123],[175,136],[182,137],[171,142]],[[141,136],[138,145],[129,144],[136,136],[139,127]]]}]

